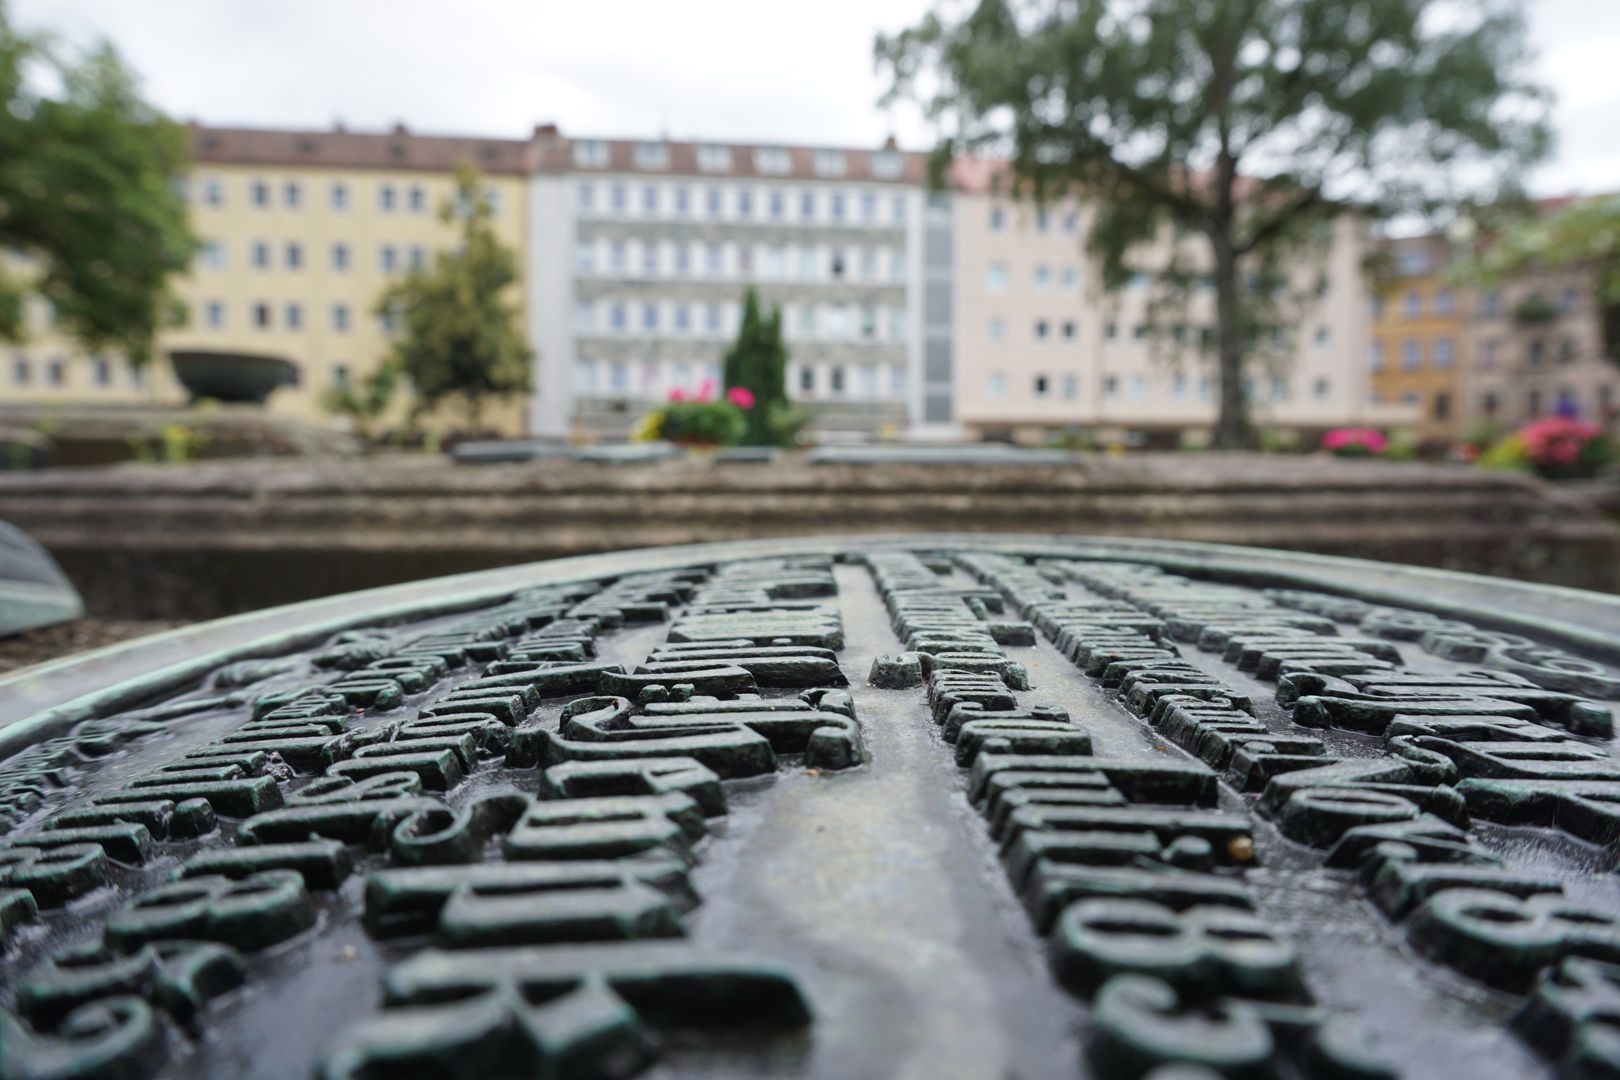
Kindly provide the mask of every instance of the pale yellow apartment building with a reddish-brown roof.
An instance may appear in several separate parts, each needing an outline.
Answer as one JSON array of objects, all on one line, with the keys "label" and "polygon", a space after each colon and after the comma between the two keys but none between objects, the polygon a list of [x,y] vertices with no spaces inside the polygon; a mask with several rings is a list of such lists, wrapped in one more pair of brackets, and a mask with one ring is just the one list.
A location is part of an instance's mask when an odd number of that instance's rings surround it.
[{"label": "pale yellow apartment building with a reddish-brown roof", "polygon": [[[526,139],[194,125],[191,152],[183,186],[202,249],[177,282],[186,324],[164,332],[154,363],[138,372],[120,356],[89,355],[55,334],[39,304],[29,340],[10,350],[10,366],[0,371],[0,397],[24,405],[178,405],[186,395],[167,363],[170,351],[280,356],[296,366],[298,384],[272,393],[269,410],[329,423],[326,392],[363,379],[387,355],[377,296],[455,243],[439,207],[454,193],[460,162],[483,172],[497,235],[525,251]],[[522,431],[525,405],[489,410],[489,421]]]}]

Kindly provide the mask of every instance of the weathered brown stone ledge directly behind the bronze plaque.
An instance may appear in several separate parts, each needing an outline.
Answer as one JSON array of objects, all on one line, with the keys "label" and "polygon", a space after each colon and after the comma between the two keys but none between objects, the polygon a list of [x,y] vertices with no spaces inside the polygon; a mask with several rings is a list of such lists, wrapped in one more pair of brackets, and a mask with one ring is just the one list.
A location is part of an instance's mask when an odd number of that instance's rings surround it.
[{"label": "weathered brown stone ledge directly behind the bronze plaque", "polygon": [[533,559],[825,533],[1286,547],[1620,591],[1620,526],[1534,479],[1262,455],[1071,465],[240,461],[0,476],[94,614],[204,619]]}]

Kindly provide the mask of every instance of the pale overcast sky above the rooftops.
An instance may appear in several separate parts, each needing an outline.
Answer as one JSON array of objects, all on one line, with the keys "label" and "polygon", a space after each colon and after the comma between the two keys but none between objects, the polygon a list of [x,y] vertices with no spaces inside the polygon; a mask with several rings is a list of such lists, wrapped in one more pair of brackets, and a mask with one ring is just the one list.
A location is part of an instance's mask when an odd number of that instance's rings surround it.
[{"label": "pale overcast sky above the rooftops", "polygon": [[[870,146],[932,136],[876,107],[872,37],[930,0],[11,0],[110,39],[146,92],[222,125],[565,133]],[[1620,0],[1531,0],[1558,96],[1541,194],[1620,189]]]}]

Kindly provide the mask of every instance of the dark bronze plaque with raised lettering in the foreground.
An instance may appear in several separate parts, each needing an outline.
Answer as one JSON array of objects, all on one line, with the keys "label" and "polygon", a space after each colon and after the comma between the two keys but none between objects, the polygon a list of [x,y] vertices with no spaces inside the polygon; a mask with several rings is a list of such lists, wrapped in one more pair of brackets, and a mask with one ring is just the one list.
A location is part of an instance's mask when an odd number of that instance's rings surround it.
[{"label": "dark bronze plaque with raised lettering in the foreground", "polygon": [[1620,1077],[1557,591],[776,547],[13,714],[0,1077]]}]

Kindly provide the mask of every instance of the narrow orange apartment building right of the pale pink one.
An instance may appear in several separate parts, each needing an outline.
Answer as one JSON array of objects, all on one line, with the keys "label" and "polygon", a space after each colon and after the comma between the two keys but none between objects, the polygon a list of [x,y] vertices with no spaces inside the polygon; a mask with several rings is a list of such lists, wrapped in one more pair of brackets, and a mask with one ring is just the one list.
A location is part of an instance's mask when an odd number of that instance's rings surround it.
[{"label": "narrow orange apartment building right of the pale pink one", "polygon": [[1445,277],[1452,259],[1443,236],[1390,241],[1371,308],[1372,397],[1416,410],[1413,432],[1426,444],[1463,434],[1460,387],[1469,363],[1473,296]]}]

